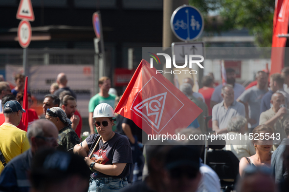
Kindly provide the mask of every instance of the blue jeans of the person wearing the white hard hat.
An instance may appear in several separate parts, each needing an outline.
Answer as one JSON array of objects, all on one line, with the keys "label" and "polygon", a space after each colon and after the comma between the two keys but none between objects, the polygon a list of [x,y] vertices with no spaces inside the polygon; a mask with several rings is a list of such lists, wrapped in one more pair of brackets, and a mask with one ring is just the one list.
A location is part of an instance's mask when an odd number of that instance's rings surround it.
[{"label": "blue jeans of the person wearing the white hard hat", "polygon": [[122,191],[125,187],[128,187],[127,178],[90,178],[88,192],[118,192]]}]

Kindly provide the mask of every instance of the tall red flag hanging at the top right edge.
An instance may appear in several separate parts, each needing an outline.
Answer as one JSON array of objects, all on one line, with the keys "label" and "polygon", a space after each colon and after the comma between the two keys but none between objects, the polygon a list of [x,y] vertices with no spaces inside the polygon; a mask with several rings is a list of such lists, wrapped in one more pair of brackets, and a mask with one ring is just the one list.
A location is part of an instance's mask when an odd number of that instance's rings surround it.
[{"label": "tall red flag hanging at the top right edge", "polygon": [[276,0],[273,18],[273,37],[271,50],[270,74],[280,73],[284,67],[284,54],[287,38],[279,38],[278,34],[288,33],[289,0]]}]

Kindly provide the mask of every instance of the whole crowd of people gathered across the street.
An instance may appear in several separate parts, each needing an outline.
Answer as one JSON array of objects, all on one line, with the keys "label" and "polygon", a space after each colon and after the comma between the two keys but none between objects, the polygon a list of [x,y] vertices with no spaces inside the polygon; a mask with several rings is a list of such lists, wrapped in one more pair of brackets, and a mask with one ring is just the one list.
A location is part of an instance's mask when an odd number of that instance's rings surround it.
[{"label": "whole crowd of people gathered across the street", "polygon": [[[99,79],[100,92],[89,101],[90,135],[85,139],[77,97],[67,87],[66,74],[60,73],[51,94],[44,96],[45,119],[30,108],[29,92],[28,110],[22,108],[24,79],[17,75],[14,89],[0,82],[1,192],[229,189],[218,169],[206,165],[204,140],[152,141],[143,146],[142,130],[114,113],[121,96],[111,92],[109,77]],[[222,150],[240,161],[232,181],[237,192],[288,191],[289,67],[270,76],[258,71],[256,81],[246,88],[236,83],[231,68],[226,69],[224,85],[218,85],[213,74],[203,77],[199,93],[193,91],[194,84],[184,78],[179,89],[202,113],[187,128],[176,128],[176,134],[226,135]],[[28,113],[28,128],[22,123],[23,113]],[[234,135],[238,139],[231,139]]]}]

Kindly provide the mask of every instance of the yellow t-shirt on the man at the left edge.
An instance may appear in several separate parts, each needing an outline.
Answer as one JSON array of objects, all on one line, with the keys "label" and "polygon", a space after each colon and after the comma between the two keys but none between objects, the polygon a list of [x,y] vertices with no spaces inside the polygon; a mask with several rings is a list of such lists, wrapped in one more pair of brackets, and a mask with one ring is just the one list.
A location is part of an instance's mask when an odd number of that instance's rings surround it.
[{"label": "yellow t-shirt on the man at the left edge", "polygon": [[[10,123],[3,123],[0,126],[0,150],[6,163],[29,148],[30,144],[25,131]],[[3,169],[4,166],[0,162],[0,173]]]}]

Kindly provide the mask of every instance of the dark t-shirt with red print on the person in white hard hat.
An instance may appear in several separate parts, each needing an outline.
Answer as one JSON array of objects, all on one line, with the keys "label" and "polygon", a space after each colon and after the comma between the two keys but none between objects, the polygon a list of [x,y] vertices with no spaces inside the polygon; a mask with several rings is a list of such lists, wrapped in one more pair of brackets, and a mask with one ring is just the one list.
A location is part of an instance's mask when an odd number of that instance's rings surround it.
[{"label": "dark t-shirt with red print on the person in white hard hat", "polygon": [[[91,134],[86,138],[86,142],[89,147],[89,154],[93,150],[99,134]],[[124,178],[129,175],[129,165],[133,163],[132,159],[132,149],[129,140],[118,133],[107,142],[103,143],[100,139],[91,159],[96,163],[101,163],[104,165],[112,165],[113,163],[127,163],[122,173],[118,176],[106,175],[100,172],[94,172],[90,176],[93,178],[98,177],[112,177],[112,178]]]}]

